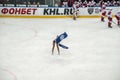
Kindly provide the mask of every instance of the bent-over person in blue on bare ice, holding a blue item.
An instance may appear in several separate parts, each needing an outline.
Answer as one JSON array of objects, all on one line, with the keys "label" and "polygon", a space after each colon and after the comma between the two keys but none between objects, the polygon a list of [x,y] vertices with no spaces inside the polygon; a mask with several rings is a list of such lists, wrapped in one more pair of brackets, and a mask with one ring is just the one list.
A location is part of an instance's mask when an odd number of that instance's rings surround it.
[{"label": "bent-over person in blue on bare ice, holding a blue item", "polygon": [[53,47],[52,47],[52,55],[54,54],[54,48],[55,48],[55,45],[57,47],[57,51],[58,51],[58,54],[60,55],[60,49],[59,47],[62,47],[64,49],[68,49],[67,46],[63,45],[63,44],[60,44],[60,42],[67,38],[68,34],[66,32],[62,33],[61,35],[57,36],[57,38],[55,40],[53,40]]}]

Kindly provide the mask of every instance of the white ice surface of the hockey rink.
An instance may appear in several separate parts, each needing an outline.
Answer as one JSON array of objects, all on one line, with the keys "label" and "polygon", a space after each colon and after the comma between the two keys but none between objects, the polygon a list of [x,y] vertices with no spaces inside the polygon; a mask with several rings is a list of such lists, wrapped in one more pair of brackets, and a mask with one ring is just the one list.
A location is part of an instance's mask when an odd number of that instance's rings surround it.
[{"label": "white ice surface of the hockey rink", "polygon": [[[0,80],[120,80],[120,28],[112,26],[98,18],[0,18]],[[63,32],[69,49],[51,55]]]}]

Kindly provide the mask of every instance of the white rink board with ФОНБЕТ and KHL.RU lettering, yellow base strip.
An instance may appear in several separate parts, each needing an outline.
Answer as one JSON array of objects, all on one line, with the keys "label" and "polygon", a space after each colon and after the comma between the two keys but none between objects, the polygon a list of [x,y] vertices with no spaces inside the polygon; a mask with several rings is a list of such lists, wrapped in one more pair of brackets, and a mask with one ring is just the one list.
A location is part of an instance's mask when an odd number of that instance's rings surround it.
[{"label": "white rink board with \u0424\u041e\u041d\u0411\u0415\u0422 and KHL.RU lettering, yellow base strip", "polygon": [[[120,7],[107,7],[106,12],[112,9],[114,16]],[[0,17],[7,18],[72,18],[72,7],[0,7]],[[78,18],[99,18],[100,7],[79,8]]]}]

